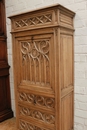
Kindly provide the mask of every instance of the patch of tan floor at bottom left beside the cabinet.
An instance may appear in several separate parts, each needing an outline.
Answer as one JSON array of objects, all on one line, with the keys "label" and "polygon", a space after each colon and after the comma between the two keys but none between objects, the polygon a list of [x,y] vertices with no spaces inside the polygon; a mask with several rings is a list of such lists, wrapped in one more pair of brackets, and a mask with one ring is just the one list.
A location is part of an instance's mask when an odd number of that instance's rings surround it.
[{"label": "patch of tan floor at bottom left beside the cabinet", "polygon": [[0,123],[0,130],[17,130],[15,118],[11,118],[9,120]]}]

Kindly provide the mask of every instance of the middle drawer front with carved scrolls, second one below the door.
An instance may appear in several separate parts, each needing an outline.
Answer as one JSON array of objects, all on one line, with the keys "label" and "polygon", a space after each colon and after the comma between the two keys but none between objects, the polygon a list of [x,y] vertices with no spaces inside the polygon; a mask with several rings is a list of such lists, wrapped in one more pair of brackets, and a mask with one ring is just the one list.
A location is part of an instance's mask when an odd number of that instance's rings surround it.
[{"label": "middle drawer front with carved scrolls, second one below the door", "polygon": [[38,123],[42,122],[52,126],[55,124],[55,115],[52,112],[36,109],[35,107],[19,105],[19,115],[20,117],[38,121]]}]

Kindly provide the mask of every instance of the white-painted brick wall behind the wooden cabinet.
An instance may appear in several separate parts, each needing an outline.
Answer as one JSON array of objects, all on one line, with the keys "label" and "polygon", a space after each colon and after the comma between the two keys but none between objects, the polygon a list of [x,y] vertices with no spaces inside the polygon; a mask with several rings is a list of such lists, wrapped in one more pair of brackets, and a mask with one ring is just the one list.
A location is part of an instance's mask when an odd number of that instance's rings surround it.
[{"label": "white-painted brick wall behind the wooden cabinet", "polygon": [[[87,130],[87,0],[5,0],[6,17],[60,3],[76,12],[75,26],[75,129]],[[8,61],[12,109],[15,112],[10,20],[7,23]]]}]

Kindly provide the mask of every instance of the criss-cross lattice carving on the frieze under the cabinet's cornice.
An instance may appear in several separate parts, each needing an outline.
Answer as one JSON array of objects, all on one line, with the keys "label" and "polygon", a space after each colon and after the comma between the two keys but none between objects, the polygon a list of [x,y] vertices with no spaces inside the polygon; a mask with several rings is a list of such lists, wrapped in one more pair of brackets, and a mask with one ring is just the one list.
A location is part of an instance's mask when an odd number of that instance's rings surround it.
[{"label": "criss-cross lattice carving on the frieze under the cabinet's cornice", "polygon": [[15,22],[15,27],[20,28],[20,27],[35,26],[39,24],[49,23],[51,21],[52,21],[52,14],[46,14],[46,15],[44,14],[36,17],[20,19]]}]

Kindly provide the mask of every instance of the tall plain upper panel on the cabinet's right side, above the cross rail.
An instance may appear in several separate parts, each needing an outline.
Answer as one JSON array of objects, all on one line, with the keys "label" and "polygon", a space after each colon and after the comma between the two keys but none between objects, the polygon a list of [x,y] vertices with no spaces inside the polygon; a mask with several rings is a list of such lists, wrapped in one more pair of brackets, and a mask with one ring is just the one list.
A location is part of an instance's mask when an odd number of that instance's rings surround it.
[{"label": "tall plain upper panel on the cabinet's right side, above the cross rail", "polygon": [[73,37],[61,35],[61,89],[73,85]]}]

